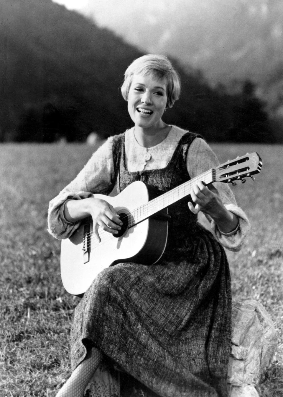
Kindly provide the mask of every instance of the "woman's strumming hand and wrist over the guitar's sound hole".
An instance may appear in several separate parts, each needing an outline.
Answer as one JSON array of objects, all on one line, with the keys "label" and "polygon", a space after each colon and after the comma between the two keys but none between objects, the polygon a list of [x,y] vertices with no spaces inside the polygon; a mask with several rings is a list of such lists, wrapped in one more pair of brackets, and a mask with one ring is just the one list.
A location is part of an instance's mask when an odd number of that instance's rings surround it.
[{"label": "woman's strumming hand and wrist over the guitar's sound hole", "polygon": [[112,205],[101,198],[89,197],[66,202],[64,216],[68,222],[76,222],[89,215],[93,220],[93,233],[98,242],[101,241],[98,233],[99,227],[109,233],[117,234],[123,225]]}]

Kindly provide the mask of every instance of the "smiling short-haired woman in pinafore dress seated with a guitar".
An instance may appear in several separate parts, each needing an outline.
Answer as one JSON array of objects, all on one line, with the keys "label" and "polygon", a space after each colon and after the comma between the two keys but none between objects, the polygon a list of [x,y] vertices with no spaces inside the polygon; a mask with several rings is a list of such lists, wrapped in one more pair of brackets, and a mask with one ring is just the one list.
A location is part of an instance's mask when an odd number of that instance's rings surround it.
[{"label": "smiling short-haired woman in pinafore dress seated with a guitar", "polygon": [[[136,180],[162,193],[218,165],[199,135],[162,120],[179,94],[166,57],[142,56],[127,68],[122,95],[134,127],[109,138],[50,202],[51,234],[70,237],[90,215],[97,241],[101,229],[115,235],[120,216],[93,193],[108,195],[115,186],[119,193]],[[200,211],[210,231],[198,223]],[[71,330],[74,372],[59,397],[82,396],[102,357],[162,397],[227,395],[231,287],[223,247],[239,250],[249,222],[226,184],[201,181],[169,215],[156,264],[117,264],[85,292]]]}]

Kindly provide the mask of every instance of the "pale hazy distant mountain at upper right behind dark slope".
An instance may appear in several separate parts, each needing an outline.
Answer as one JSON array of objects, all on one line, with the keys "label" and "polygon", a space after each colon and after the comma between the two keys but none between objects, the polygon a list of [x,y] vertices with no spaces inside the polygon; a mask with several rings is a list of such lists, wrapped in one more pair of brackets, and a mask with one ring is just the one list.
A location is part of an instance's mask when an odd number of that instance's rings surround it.
[{"label": "pale hazy distant mountain at upper right behind dark slope", "polygon": [[234,90],[253,80],[270,114],[283,112],[275,100],[283,84],[282,0],[104,0],[89,2],[84,12],[141,50],[173,56],[189,72],[199,69],[213,86]]}]

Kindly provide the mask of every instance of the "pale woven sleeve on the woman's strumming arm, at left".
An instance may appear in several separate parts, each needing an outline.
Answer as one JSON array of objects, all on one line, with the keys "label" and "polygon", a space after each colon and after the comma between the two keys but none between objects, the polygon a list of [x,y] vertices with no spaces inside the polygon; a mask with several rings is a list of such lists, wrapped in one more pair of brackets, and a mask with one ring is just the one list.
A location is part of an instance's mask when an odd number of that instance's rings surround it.
[{"label": "pale woven sleeve on the woman's strumming arm, at left", "polygon": [[93,153],[84,168],[53,200],[48,208],[48,231],[57,239],[66,239],[80,226],[68,222],[64,217],[67,200],[82,200],[94,193],[108,195],[114,187],[114,164],[112,138],[109,138]]}]

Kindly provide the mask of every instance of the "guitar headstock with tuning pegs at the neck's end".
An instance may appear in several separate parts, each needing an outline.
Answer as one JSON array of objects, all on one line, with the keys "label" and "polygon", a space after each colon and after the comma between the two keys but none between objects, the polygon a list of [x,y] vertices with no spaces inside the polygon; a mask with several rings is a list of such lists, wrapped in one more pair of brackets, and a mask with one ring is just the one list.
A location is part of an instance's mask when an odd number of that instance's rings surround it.
[{"label": "guitar headstock with tuning pegs at the neck's end", "polygon": [[236,180],[246,181],[246,177],[252,179],[253,175],[259,173],[262,168],[262,160],[258,153],[247,153],[245,156],[237,157],[234,160],[228,160],[215,168],[213,180],[215,182],[226,182],[236,185]]}]

